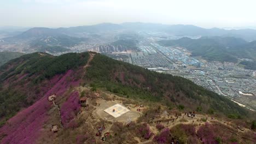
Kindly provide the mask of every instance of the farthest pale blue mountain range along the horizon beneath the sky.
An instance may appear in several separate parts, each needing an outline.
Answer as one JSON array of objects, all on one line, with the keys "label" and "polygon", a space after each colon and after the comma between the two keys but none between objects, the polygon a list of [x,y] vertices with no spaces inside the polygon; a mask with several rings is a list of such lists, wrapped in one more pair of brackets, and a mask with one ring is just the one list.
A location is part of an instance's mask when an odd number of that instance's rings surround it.
[{"label": "farthest pale blue mountain range along the horizon beneath the sky", "polygon": [[[173,35],[187,36],[220,36],[220,37],[236,37],[247,41],[256,40],[255,29],[221,29],[221,28],[201,28],[193,25],[162,25],[158,23],[142,23],[142,22],[126,22],[121,24],[100,23],[91,26],[78,26],[68,28],[32,28],[22,33],[20,37],[29,38],[31,36],[59,36],[74,35],[75,33],[100,33],[113,31],[160,31]],[[63,35],[62,35],[63,36]],[[20,38],[18,37],[18,38]]]}]

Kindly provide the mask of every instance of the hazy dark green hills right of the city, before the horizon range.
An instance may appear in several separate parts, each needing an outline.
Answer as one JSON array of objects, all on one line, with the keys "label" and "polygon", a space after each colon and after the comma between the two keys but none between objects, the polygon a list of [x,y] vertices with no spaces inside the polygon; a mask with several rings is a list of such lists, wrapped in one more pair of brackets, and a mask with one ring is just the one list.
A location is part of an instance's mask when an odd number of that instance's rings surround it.
[{"label": "hazy dark green hills right of the city, before the horizon range", "polygon": [[238,58],[256,58],[254,41],[247,42],[235,37],[202,37],[161,40],[164,46],[179,45],[192,52],[192,56],[202,56],[208,61],[237,62]]}]

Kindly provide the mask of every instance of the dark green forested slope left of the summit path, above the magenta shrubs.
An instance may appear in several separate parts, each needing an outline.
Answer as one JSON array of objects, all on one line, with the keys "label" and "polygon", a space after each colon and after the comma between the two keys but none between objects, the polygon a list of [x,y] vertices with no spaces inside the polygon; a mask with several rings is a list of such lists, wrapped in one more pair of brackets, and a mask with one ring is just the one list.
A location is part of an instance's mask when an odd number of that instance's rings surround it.
[{"label": "dark green forested slope left of the summit path, above the magenta shrubs", "polygon": [[[68,53],[59,57],[32,53],[13,59],[0,67],[0,117],[10,118],[35,103],[57,82],[54,78],[86,63],[88,53]],[[54,78],[53,78],[54,77]],[[77,78],[78,79],[78,78]],[[71,82],[72,83],[72,82]],[[11,103],[11,105],[10,105]]]}]

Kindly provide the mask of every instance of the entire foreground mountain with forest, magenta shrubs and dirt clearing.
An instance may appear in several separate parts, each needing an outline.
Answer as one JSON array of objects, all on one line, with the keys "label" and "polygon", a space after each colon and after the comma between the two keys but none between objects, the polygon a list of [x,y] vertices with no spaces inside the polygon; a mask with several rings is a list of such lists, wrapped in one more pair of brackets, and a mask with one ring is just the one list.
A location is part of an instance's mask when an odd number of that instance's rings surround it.
[{"label": "entire foreground mountain with forest, magenta shrubs and dirt clearing", "polygon": [[[157,130],[152,131],[156,122],[150,120],[155,116],[158,119],[165,110],[176,112],[179,118],[175,122],[184,121],[184,124],[185,121],[192,124],[192,119],[185,120],[183,116],[182,120],[183,111],[198,111],[194,120],[198,119],[196,122],[202,126],[197,126],[201,130],[193,131],[196,125],[178,126],[184,126],[184,130],[191,128],[191,133],[195,136],[193,139],[189,138],[190,130],[181,132],[181,135],[174,132],[177,130],[173,125],[172,137],[176,135],[175,139],[178,136],[180,141],[191,139],[195,141],[193,143],[200,143],[196,133],[199,138],[211,141],[215,141],[218,136],[224,142],[231,139],[243,143],[254,140],[253,137],[245,140],[242,138],[245,135],[253,136],[248,129],[250,126],[247,127],[250,124],[248,119],[251,119],[249,111],[231,100],[182,77],[156,73],[94,52],[67,53],[61,56],[37,52],[21,56],[1,66],[0,85],[1,143],[100,143],[101,137],[95,136],[95,133],[97,130],[97,133],[101,133],[103,127],[106,127],[104,133],[110,131],[105,133],[107,143],[158,143],[160,139],[170,143],[169,129],[165,129],[168,139],[161,138],[162,131],[159,134]],[[49,101],[48,97],[53,94],[56,95],[55,100]],[[88,98],[88,105],[81,107],[79,99],[85,96]],[[132,109],[130,118],[126,115],[130,119],[130,126],[126,125],[125,115],[115,119],[103,112],[108,106],[117,103]],[[135,107],[135,104],[146,107]],[[202,119],[210,116],[236,118],[232,120],[234,125],[237,125],[235,122],[243,121],[239,118],[246,118],[248,124],[241,123],[248,133],[236,132],[238,136],[226,136],[224,139],[220,135],[222,133],[216,133],[217,130],[231,134],[230,131],[235,131],[235,128],[225,126],[217,120],[203,122],[207,118]],[[162,116],[162,119],[166,117]],[[165,123],[164,120],[161,121]],[[53,125],[59,125],[57,134],[50,131]],[[211,132],[212,137],[207,138],[202,131],[208,129],[214,132]],[[153,133],[154,139],[150,139]]]}]

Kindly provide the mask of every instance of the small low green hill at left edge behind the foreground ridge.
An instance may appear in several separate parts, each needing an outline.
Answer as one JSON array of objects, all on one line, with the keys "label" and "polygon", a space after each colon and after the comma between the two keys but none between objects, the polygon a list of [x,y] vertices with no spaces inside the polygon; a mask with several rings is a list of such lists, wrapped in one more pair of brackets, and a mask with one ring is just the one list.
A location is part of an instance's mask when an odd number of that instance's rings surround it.
[{"label": "small low green hill at left edge behind the foreground ridge", "polygon": [[10,51],[0,52],[0,66],[3,65],[4,63],[10,61],[11,59],[20,57],[22,55],[25,55],[25,53],[10,52]]}]

